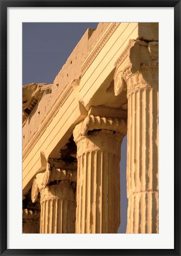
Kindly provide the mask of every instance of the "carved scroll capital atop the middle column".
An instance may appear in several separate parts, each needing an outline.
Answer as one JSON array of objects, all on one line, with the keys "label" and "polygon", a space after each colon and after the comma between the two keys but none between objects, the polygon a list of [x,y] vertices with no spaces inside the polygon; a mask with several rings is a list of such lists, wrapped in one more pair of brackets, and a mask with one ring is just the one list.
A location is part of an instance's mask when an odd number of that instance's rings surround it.
[{"label": "carved scroll capital atop the middle column", "polygon": [[88,116],[77,124],[73,135],[75,143],[88,135],[93,130],[111,130],[121,135],[127,133],[127,111],[110,107],[91,107]]}]

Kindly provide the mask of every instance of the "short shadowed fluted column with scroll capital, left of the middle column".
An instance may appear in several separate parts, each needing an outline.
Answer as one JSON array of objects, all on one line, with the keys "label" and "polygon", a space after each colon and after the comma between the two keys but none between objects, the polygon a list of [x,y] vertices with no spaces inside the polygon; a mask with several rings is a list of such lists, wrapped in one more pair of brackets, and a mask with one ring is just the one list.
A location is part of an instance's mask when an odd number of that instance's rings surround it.
[{"label": "short shadowed fluted column with scroll capital, left of the middle column", "polygon": [[37,174],[31,197],[40,192],[40,233],[75,233],[75,171],[50,168]]}]

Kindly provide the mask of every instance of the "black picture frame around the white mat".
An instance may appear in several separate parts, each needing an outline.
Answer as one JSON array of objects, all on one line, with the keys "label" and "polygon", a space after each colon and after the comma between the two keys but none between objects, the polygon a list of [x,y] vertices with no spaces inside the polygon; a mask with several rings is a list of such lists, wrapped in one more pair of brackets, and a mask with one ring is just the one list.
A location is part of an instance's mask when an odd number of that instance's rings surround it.
[{"label": "black picture frame around the white mat", "polygon": [[[8,7],[174,7],[175,102],[175,248],[174,249],[7,249],[7,9]],[[0,0],[1,66],[0,66],[0,252],[1,255],[181,255],[180,251],[180,13],[179,0]],[[169,89],[169,88],[166,88]],[[168,106],[169,107],[169,106]],[[169,121],[169,117],[168,117]],[[169,135],[168,135],[169,136]],[[169,221],[169,220],[168,220]]]}]

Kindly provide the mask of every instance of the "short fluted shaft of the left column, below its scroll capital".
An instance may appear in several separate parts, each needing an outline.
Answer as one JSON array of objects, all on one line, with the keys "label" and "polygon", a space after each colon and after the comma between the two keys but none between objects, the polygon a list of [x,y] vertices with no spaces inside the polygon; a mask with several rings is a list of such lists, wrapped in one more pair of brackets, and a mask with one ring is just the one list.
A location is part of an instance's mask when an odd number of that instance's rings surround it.
[{"label": "short fluted shaft of the left column, below its scroll capital", "polygon": [[75,233],[75,194],[70,181],[41,190],[40,233]]}]

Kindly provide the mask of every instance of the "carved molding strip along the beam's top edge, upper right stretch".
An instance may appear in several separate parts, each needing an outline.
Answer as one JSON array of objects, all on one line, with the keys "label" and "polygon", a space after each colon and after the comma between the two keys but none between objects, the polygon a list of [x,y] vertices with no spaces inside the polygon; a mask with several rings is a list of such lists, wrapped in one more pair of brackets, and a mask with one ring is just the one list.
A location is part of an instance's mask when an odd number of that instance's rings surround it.
[{"label": "carved molding strip along the beam's top edge, upper right stretch", "polygon": [[97,45],[88,53],[87,59],[85,59],[81,71],[82,75],[87,71],[88,67],[91,63],[96,59],[98,53],[100,53],[101,49],[103,49],[104,45],[107,43],[108,39],[110,39],[111,35],[114,33],[117,27],[119,27],[120,23],[112,23],[108,28],[102,39],[97,43]]}]

